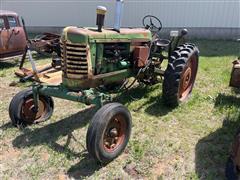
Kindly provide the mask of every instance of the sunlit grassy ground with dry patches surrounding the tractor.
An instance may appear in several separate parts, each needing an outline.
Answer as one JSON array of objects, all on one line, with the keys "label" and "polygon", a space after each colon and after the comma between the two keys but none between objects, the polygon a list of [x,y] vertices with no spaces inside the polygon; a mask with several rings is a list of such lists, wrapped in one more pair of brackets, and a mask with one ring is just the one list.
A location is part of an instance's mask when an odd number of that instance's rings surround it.
[{"label": "sunlit grassy ground with dry patches surrounding the tractor", "polygon": [[[84,105],[54,99],[49,121],[22,131],[13,128],[9,102],[31,83],[9,87],[18,80],[13,74],[16,62],[0,62],[0,165],[4,167],[0,179],[224,179],[230,144],[240,126],[239,90],[228,87],[231,62],[239,56],[240,45],[194,42],[200,49],[199,70],[187,103],[166,107],[162,84],[134,87],[116,96],[115,101],[131,111],[133,129],[125,152],[107,165],[98,164],[86,151],[87,123],[95,110]],[[38,64],[50,62],[37,54],[34,58]],[[129,164],[132,173],[124,170]]]}]

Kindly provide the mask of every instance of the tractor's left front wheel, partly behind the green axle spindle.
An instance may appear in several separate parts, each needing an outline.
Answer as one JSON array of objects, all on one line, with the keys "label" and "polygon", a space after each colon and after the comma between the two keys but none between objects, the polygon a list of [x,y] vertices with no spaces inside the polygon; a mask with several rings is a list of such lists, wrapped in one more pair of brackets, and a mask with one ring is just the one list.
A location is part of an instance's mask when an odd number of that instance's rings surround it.
[{"label": "tractor's left front wheel, partly behind the green axle spindle", "polygon": [[54,103],[49,96],[39,95],[38,110],[34,110],[32,89],[16,94],[9,106],[9,116],[16,127],[31,125],[49,119],[53,113]]}]

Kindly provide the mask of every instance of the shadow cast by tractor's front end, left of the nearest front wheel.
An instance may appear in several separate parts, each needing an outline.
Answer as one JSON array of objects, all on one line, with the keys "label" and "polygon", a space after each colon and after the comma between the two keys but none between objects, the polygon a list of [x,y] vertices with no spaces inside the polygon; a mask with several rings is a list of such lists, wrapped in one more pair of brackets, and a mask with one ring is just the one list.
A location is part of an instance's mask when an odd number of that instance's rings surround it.
[{"label": "shadow cast by tractor's front end, left of the nearest front wheel", "polygon": [[[95,108],[87,108],[70,117],[51,123],[39,129],[30,130],[29,128],[26,128],[23,130],[23,134],[13,140],[12,144],[17,148],[46,144],[53,150],[64,153],[67,158],[81,159],[78,164],[72,166],[68,170],[70,177],[79,179],[81,177],[90,176],[102,166],[97,164],[96,161],[89,156],[86,149],[77,153],[69,149],[68,145],[71,139],[74,138],[72,132],[75,129],[86,126],[95,111]],[[9,123],[1,128],[4,129],[7,127],[9,127]],[[66,144],[63,146],[56,142],[60,136],[67,136]],[[85,148],[85,144],[82,146]]]}]

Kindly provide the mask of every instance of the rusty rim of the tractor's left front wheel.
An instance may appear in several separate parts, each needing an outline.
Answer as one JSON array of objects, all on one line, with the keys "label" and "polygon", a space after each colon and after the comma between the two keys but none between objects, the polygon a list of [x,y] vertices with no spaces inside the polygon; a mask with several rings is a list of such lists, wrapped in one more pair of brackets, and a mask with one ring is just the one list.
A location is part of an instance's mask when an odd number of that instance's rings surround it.
[{"label": "rusty rim of the tractor's left front wheel", "polygon": [[42,117],[47,114],[47,102],[43,98],[39,98],[38,110],[34,110],[33,98],[27,98],[22,105],[21,117],[28,123],[41,121]]}]

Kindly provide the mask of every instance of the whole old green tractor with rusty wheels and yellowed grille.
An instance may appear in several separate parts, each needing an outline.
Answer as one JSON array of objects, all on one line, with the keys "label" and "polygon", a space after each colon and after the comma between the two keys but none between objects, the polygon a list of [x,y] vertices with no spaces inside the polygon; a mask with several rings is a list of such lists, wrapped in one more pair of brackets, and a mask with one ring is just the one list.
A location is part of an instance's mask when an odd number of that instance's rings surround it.
[{"label": "whole old green tractor with rusty wheels and yellowed grille", "polygon": [[[102,163],[123,152],[132,127],[129,110],[111,102],[112,91],[129,89],[136,81],[153,85],[160,76],[163,100],[175,107],[189,98],[198,69],[198,48],[181,43],[186,29],[172,31],[170,40],[160,39],[162,23],[151,15],[143,18],[144,28],[120,28],[123,1],[116,3],[114,29],[103,28],[105,7],[97,8],[97,28],[64,28],[60,85],[34,83],[16,94],[9,106],[12,124],[26,126],[51,117],[52,97],[95,105],[99,110],[90,122],[86,143],[88,152]],[[166,70],[161,66],[164,60],[168,61]],[[135,80],[129,85],[128,78]]]}]

